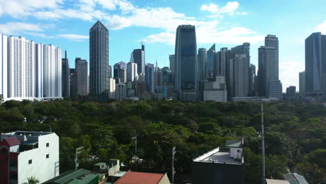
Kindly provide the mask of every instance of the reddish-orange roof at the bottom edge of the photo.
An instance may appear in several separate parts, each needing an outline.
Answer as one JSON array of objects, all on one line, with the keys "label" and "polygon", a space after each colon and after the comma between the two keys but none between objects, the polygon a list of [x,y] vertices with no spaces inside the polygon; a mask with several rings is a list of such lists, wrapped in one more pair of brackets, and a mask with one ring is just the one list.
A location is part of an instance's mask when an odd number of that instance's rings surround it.
[{"label": "reddish-orange roof at the bottom edge of the photo", "polygon": [[129,170],[114,184],[157,184],[163,176],[164,174],[133,172]]}]

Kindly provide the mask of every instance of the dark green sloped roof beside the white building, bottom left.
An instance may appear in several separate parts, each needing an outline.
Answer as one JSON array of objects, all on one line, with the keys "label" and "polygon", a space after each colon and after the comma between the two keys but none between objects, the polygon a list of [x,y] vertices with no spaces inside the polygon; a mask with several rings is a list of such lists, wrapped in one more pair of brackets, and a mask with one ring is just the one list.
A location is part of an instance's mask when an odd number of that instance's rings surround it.
[{"label": "dark green sloped roof beside the white building, bottom left", "polygon": [[63,174],[60,174],[59,176],[56,176],[55,178],[52,178],[49,181],[45,181],[45,183],[58,183],[58,184],[66,184],[70,181],[72,181],[75,178],[79,178],[81,176],[84,176],[88,173],[90,173],[91,171],[86,170],[86,169],[78,169],[76,170],[71,170],[71,171],[66,171]]}]

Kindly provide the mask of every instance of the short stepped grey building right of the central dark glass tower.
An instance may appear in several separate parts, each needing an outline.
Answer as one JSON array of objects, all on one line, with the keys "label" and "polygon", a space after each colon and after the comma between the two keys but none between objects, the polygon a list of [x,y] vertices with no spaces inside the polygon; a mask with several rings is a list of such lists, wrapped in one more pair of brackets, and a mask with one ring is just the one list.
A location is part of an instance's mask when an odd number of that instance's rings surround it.
[{"label": "short stepped grey building right of the central dark glass tower", "polygon": [[203,100],[216,102],[226,102],[228,100],[225,76],[217,76],[215,80],[204,82]]}]

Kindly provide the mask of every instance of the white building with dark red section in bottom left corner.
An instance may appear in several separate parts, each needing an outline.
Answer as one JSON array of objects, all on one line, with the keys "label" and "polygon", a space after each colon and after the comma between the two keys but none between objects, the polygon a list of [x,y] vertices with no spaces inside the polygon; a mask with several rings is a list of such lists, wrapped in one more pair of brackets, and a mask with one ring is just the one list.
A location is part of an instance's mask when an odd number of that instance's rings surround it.
[{"label": "white building with dark red section in bottom left corner", "polygon": [[16,131],[1,134],[0,183],[40,183],[59,176],[59,137],[53,132]]}]

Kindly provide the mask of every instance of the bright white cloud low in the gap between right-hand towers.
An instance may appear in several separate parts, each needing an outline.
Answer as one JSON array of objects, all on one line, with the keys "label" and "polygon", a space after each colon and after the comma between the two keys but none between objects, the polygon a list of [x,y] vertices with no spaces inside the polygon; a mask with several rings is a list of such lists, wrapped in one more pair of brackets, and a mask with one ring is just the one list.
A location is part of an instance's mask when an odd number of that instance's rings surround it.
[{"label": "bright white cloud low in the gap between right-hand towers", "polygon": [[304,71],[304,63],[288,61],[279,63],[279,79],[282,82],[283,91],[288,86],[296,86],[299,91],[299,72]]}]

